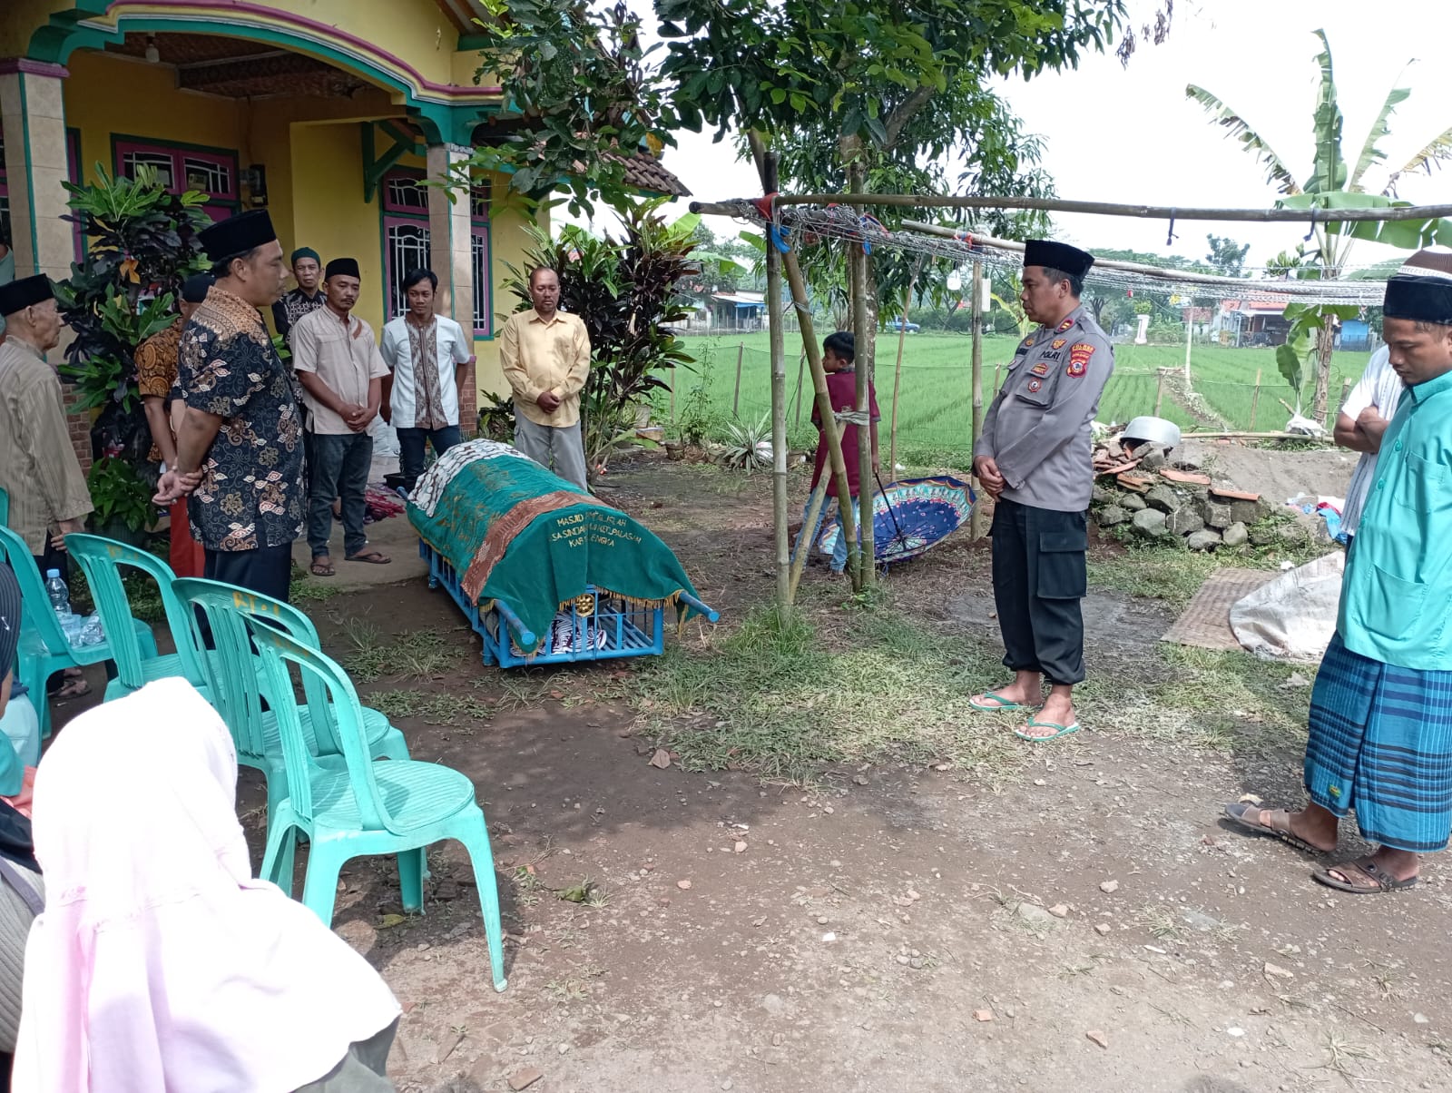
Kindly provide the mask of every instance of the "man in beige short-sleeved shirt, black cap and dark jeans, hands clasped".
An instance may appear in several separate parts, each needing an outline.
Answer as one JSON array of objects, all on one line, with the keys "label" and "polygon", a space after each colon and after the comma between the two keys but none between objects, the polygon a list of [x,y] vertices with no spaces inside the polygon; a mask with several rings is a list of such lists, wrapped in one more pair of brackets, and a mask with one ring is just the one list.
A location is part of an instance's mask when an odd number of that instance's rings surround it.
[{"label": "man in beige short-sleeved shirt, black cap and dark jeans, hands clasped", "polygon": [[392,561],[382,551],[367,549],[363,535],[367,475],[373,465],[373,437],[367,430],[383,401],[388,365],[378,352],[373,327],[353,314],[359,288],[359,263],[333,259],[322,282],[325,305],[292,328],[292,365],[302,384],[312,433],[308,545],[314,577],[335,573],[328,549],[334,497],[343,499],[343,557],[373,565]]}]

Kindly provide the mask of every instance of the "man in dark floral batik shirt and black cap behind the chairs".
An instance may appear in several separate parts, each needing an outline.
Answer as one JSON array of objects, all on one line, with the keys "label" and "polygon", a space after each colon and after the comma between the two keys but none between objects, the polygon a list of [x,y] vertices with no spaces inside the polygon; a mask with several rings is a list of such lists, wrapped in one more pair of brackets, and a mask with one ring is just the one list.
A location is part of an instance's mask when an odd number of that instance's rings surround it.
[{"label": "man in dark floral batik shirt and black cap behind the chairs", "polygon": [[177,467],[157,503],[190,494],[206,576],[287,599],[303,531],[301,391],[273,349],[261,308],[282,295],[282,244],[264,209],[206,228],[216,283],[182,334],[186,416]]}]

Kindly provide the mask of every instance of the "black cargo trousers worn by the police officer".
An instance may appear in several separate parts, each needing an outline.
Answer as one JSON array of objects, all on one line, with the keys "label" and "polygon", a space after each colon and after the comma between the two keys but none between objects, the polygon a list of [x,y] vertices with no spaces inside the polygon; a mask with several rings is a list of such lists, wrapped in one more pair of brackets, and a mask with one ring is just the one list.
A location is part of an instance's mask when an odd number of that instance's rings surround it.
[{"label": "black cargo trousers worn by the police officer", "polygon": [[1085,677],[1089,590],[1088,513],[999,500],[993,510],[993,602],[1003,632],[1003,666],[1038,671],[1050,683]]}]

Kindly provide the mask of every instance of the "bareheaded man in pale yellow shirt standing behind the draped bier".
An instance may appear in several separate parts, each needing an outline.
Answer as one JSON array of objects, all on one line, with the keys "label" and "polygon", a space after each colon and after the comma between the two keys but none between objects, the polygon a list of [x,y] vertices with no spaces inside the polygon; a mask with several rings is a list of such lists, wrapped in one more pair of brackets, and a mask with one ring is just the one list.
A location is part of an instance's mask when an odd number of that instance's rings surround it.
[{"label": "bareheaded man in pale yellow shirt standing behind the draped bier", "polygon": [[510,315],[499,343],[514,390],[514,446],[581,490],[588,490],[579,435],[579,392],[590,375],[590,334],[579,315],[559,310],[559,275],[530,270],[534,307]]}]

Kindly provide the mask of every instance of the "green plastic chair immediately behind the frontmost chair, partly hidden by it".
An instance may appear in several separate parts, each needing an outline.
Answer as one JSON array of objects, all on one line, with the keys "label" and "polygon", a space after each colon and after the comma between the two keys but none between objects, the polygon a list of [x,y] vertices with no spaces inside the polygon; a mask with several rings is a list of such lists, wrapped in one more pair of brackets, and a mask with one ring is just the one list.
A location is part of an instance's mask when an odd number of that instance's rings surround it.
[{"label": "green plastic chair immediately behind the frontmost chair, partly hidden by it", "polygon": [[[261,770],[267,781],[267,826],[272,830],[277,802],[287,796],[287,769],[274,711],[279,705],[296,705],[296,696],[290,690],[276,695],[264,690],[247,624],[251,619],[276,626],[308,648],[319,648],[318,631],[292,605],[222,581],[177,577],[171,590],[186,606],[184,613],[192,624],[187,637],[193,650],[202,648],[200,619],[206,618],[211,626],[216,648],[215,656],[203,658],[203,664],[212,705],[232,733],[237,762]],[[343,747],[333,734],[331,719],[312,717],[314,709],[327,709],[328,701],[322,682],[303,676],[299,718],[308,749],[324,765],[331,760],[331,766],[343,770]],[[408,759],[404,734],[376,709],[363,708],[363,735],[370,757]]]}]

